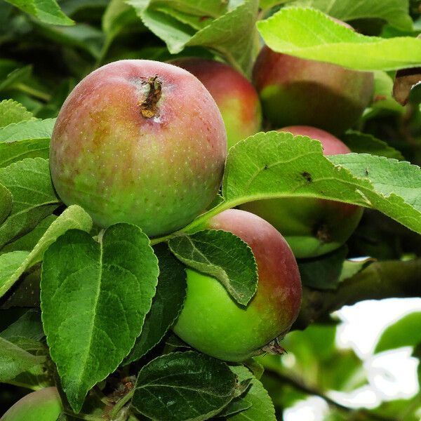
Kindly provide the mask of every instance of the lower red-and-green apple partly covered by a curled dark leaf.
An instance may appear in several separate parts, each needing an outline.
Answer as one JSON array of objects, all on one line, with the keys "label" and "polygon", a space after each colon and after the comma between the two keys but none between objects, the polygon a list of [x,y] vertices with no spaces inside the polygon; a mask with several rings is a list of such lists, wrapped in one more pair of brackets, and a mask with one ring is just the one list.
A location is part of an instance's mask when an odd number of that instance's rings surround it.
[{"label": "lower red-and-green apple partly covered by a curled dark leaf", "polygon": [[187,298],[174,332],[192,347],[225,361],[244,361],[285,335],[298,316],[301,281],[288,243],[257,215],[229,209],[208,220],[209,229],[239,236],[258,264],[258,290],[238,305],[213,276],[187,269]]}]

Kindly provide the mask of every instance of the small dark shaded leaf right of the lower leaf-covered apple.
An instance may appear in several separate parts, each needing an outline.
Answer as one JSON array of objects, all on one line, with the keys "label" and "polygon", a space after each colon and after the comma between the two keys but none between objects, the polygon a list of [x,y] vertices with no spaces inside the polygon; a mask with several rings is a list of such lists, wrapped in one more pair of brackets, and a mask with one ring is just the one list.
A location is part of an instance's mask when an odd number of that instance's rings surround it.
[{"label": "small dark shaded leaf right of the lower leaf-covered apple", "polygon": [[347,247],[342,246],[321,258],[298,262],[302,285],[321,290],[336,289],[347,253]]}]

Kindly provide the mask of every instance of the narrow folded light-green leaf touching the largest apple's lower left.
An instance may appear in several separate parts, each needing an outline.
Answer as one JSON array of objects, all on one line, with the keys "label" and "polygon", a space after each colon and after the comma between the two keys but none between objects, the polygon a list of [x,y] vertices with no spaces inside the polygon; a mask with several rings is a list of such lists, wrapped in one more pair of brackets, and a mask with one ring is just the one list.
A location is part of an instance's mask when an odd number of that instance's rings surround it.
[{"label": "narrow folded light-green leaf touching the largest apple's lower left", "polygon": [[[8,258],[11,259],[11,267],[15,267],[15,271],[11,272],[8,270],[7,277],[3,274],[0,275],[0,297],[2,297],[12,286],[18,281],[20,275],[23,274],[29,267],[34,266],[36,263],[41,262],[45,250],[53,243],[58,237],[69,229],[82,229],[83,231],[89,232],[92,229],[92,220],[88,213],[85,212],[80,206],[72,205],[69,206],[46,230],[41,239],[39,239],[33,250],[26,254],[26,252],[20,251],[6,253],[0,255],[0,262],[4,261],[7,265]],[[18,257],[16,253],[21,253],[20,256],[23,258],[22,262],[16,267]],[[26,254],[26,255],[25,255]]]}]

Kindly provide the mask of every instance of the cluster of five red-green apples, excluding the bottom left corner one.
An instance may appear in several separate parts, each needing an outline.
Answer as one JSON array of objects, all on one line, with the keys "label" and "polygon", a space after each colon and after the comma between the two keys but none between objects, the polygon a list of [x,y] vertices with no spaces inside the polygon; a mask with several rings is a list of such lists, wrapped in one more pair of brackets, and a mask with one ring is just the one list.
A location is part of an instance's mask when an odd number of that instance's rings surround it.
[{"label": "cluster of five red-green apples, excluding the bottom left corner one", "polygon": [[[260,131],[262,115],[272,128],[320,140],[325,154],[347,153],[324,129],[349,128],[373,91],[370,73],[266,46],[253,83],[201,58],[100,67],[74,88],[55,123],[50,165],[58,195],[83,206],[101,227],[129,222],[149,236],[175,232],[215,199],[227,149]],[[252,248],[257,293],[242,307],[216,279],[187,269],[187,300],[173,328],[226,361],[258,354],[288,331],[301,301],[295,257],[338,248],[362,213],[320,199],[261,200],[241,209],[225,210],[207,227],[233,232]]]}]

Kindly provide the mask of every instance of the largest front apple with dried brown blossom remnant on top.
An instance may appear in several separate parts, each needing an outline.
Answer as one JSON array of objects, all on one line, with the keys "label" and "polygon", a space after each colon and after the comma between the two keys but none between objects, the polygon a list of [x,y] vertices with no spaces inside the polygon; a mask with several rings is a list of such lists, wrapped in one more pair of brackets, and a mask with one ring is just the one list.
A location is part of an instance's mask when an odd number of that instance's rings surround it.
[{"label": "largest front apple with dried brown blossom remnant on top", "polygon": [[168,63],[121,60],[70,93],[50,167],[60,199],[97,225],[128,222],[157,236],[184,227],[214,199],[226,155],[218,106],[196,77]]}]

